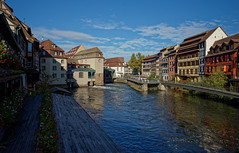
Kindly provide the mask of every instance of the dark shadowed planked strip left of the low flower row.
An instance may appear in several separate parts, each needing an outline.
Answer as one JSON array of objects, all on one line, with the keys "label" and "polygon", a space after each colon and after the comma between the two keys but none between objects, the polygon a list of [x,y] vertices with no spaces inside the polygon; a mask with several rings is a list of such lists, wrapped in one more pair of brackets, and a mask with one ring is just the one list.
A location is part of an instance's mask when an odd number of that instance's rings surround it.
[{"label": "dark shadowed planked strip left of the low flower row", "polygon": [[38,108],[42,95],[24,100],[19,120],[8,137],[8,145],[0,153],[34,153],[36,152],[36,133],[39,127]]}]

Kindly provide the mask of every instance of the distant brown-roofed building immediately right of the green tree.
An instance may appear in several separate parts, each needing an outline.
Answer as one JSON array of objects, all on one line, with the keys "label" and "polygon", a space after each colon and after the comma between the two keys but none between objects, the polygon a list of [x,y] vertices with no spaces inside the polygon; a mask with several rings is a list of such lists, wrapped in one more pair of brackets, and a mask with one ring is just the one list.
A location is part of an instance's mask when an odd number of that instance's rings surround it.
[{"label": "distant brown-roofed building immediately right of the green tree", "polygon": [[142,60],[142,75],[148,77],[150,75],[156,75],[156,61],[159,55],[147,56]]}]

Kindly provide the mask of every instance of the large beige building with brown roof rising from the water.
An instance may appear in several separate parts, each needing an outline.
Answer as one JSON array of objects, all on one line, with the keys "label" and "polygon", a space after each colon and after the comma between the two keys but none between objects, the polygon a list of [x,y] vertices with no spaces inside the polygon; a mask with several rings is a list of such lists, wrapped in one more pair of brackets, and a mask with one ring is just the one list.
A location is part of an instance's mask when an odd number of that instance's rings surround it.
[{"label": "large beige building with brown roof rising from the water", "polygon": [[[69,64],[89,65],[90,67],[79,67],[72,70],[73,79],[76,80],[78,86],[82,85],[104,85],[104,70],[103,70],[103,53],[99,48],[84,49],[80,45],[71,49],[67,56]],[[75,61],[71,62],[73,59]],[[68,71],[69,73],[69,71]],[[77,75],[78,74],[78,75]],[[81,82],[83,81],[83,82]],[[87,84],[86,84],[87,82]]]}]

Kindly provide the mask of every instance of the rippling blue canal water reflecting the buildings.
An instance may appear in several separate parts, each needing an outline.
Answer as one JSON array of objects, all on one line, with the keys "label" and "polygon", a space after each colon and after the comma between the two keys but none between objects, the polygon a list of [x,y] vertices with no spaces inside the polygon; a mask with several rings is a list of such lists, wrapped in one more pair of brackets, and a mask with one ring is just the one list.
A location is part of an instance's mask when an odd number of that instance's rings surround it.
[{"label": "rippling blue canal water reflecting the buildings", "polygon": [[126,84],[78,88],[73,97],[125,152],[239,151],[239,110],[227,104]]}]

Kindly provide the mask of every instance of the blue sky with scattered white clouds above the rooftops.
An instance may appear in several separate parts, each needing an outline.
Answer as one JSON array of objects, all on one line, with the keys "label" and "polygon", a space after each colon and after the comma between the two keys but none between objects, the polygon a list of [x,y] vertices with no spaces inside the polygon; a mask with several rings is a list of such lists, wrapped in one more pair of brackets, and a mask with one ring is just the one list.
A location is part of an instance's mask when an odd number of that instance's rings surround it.
[{"label": "blue sky with scattered white clouds above the rooftops", "polygon": [[66,52],[83,44],[105,58],[152,55],[221,26],[239,33],[238,0],[5,0],[39,40]]}]

